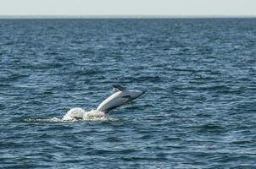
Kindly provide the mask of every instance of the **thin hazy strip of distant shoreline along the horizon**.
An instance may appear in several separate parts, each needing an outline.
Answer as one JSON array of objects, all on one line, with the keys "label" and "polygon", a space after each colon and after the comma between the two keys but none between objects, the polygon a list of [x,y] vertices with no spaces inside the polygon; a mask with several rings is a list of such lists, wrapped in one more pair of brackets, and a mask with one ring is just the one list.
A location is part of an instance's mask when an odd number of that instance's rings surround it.
[{"label": "thin hazy strip of distant shoreline along the horizon", "polygon": [[0,15],[0,19],[256,19],[256,15]]}]

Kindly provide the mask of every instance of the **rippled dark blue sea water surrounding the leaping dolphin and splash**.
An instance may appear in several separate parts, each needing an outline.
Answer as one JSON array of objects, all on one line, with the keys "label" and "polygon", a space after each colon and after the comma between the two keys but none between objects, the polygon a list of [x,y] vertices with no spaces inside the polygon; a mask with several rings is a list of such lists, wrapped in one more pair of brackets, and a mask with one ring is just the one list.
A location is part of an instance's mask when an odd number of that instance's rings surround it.
[{"label": "rippled dark blue sea water surrounding the leaping dolphin and splash", "polygon": [[2,19],[0,89],[3,168],[256,168],[256,19]]}]

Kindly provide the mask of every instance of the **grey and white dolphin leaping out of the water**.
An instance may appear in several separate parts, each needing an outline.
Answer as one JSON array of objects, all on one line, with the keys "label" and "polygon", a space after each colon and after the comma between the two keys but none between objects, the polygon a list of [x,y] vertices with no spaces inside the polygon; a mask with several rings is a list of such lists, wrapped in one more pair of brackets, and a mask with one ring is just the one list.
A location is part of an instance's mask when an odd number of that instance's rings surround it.
[{"label": "grey and white dolphin leaping out of the water", "polygon": [[108,113],[110,110],[133,101],[145,93],[144,90],[126,90],[125,87],[120,85],[113,86],[116,92],[99,104],[99,106],[97,106],[97,111]]}]

